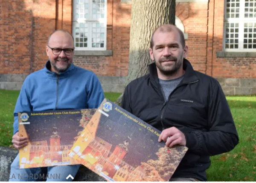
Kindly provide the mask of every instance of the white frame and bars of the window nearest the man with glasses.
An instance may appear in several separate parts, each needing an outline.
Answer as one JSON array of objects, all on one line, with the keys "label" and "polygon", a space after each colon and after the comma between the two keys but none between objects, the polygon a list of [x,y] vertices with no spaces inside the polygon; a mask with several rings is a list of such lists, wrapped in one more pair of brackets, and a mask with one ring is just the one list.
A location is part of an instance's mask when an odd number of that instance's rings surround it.
[{"label": "white frame and bars of the window nearest the man with glasses", "polygon": [[[73,0],[73,20],[72,20],[72,33],[74,37],[74,45],[76,50],[95,50],[95,51],[104,51],[107,50],[107,0],[105,0],[105,14],[104,18],[96,18],[93,19],[93,13],[92,13],[92,8],[93,7],[93,1],[89,0],[89,18],[78,18],[76,19],[76,0]],[[86,23],[88,22],[88,37],[87,37],[87,48],[83,47],[76,47],[76,23]],[[104,23],[105,30],[104,30],[104,47],[103,48],[93,48],[92,47],[92,23]]]}]

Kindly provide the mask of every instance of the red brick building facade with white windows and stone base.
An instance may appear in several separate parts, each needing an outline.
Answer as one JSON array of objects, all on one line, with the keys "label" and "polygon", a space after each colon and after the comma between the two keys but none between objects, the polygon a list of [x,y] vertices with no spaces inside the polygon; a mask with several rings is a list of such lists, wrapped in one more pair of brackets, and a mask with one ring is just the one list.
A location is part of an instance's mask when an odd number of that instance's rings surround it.
[{"label": "red brick building facade with white windows and stone base", "polygon": [[[95,12],[94,6],[99,6]],[[256,17],[255,0],[176,0],[176,23],[186,34],[188,60],[195,70],[217,78],[226,94],[256,94],[256,19],[246,19],[250,8]],[[90,9],[89,17],[99,13],[94,24],[79,17]],[[241,16],[248,21],[241,22]],[[128,73],[130,24],[131,0],[0,0],[0,89],[20,89],[29,73],[42,69],[49,34],[66,29],[76,46],[81,41],[91,45],[76,48],[74,63],[95,72],[105,92],[121,92]],[[98,25],[104,26],[99,37]],[[88,39],[97,36],[95,43],[88,42],[86,31]]]}]

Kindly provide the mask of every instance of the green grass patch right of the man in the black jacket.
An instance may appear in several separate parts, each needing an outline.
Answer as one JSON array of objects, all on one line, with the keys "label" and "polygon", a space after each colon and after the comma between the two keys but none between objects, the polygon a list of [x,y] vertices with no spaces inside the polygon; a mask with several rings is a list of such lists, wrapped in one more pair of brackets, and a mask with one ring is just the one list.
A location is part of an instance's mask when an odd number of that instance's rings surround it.
[{"label": "green grass patch right of the man in the black jacket", "polygon": [[211,157],[208,181],[256,181],[256,96],[228,96],[239,144],[228,153]]}]

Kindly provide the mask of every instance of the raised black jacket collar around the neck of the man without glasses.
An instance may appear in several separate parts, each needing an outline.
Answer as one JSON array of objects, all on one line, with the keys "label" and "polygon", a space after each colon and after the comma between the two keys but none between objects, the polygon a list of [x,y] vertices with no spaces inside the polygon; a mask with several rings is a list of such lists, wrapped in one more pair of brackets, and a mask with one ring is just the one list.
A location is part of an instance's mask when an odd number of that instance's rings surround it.
[{"label": "raised black jacket collar around the neck of the man without glasses", "polygon": [[[189,62],[189,60],[186,60],[185,58],[183,59],[183,69],[186,72],[184,74],[182,83],[191,83],[198,80],[198,77],[196,76],[191,63]],[[150,75],[150,80],[158,82],[157,66],[155,63],[151,63],[149,65],[149,75]]]}]

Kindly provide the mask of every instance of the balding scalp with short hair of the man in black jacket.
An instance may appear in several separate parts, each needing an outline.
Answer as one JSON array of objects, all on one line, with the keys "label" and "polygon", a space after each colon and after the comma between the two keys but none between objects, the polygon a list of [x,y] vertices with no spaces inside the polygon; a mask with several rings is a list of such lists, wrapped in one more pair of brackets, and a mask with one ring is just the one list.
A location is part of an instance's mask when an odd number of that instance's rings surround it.
[{"label": "balding scalp with short hair of the man in black jacket", "polygon": [[180,35],[180,44],[183,46],[183,48],[185,47],[185,38],[183,35],[183,32],[177,28],[175,25],[172,24],[164,24],[160,27],[158,27],[152,34],[151,36],[151,40],[150,40],[150,48],[153,49],[154,46],[154,34],[157,32],[172,32],[172,31],[177,31],[178,34]]}]

